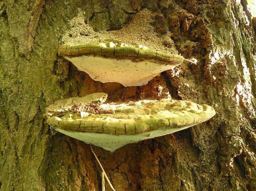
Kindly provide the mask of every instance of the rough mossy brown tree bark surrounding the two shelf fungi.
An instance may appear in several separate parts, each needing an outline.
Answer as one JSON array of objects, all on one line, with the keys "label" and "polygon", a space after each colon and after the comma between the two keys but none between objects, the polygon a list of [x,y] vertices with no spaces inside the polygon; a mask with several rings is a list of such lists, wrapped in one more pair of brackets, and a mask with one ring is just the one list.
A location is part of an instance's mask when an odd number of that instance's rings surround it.
[{"label": "rough mossy brown tree bark surrounding the two shelf fungi", "polygon": [[[216,116],[114,153],[94,147],[116,190],[256,190],[256,45],[246,3],[236,0],[0,1],[0,190],[101,190],[89,145],[51,132],[55,100],[106,92],[110,100],[161,97],[215,108]],[[58,57],[68,21],[84,11],[116,30],[145,8],[179,53],[197,58],[141,87],[96,82]],[[245,10],[245,12],[244,12]],[[168,41],[165,43],[168,46]],[[107,186],[107,190],[110,188]]]}]

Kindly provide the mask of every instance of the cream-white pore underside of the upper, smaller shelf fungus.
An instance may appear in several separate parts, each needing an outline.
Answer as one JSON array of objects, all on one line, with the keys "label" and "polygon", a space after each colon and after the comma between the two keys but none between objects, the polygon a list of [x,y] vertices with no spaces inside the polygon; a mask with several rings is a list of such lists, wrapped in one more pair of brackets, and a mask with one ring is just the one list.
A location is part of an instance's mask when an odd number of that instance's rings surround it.
[{"label": "cream-white pore underside of the upper, smaller shelf fungus", "polygon": [[95,81],[118,82],[123,86],[142,86],[162,71],[176,65],[155,63],[153,60],[132,62],[129,59],[102,58],[93,56],[64,57],[80,71],[85,71]]}]

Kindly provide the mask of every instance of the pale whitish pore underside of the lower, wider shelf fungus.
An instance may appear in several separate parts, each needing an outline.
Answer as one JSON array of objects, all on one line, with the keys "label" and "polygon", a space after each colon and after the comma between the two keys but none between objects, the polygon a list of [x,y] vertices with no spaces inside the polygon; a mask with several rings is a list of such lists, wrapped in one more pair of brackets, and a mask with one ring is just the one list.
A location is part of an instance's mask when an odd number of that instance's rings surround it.
[{"label": "pale whitish pore underside of the lower, wider shelf fungus", "polygon": [[71,131],[71,130],[64,130],[64,129],[58,129],[58,128],[56,128],[56,130],[59,131],[60,133],[66,134],[80,141],[84,141],[86,144],[93,144],[98,147],[102,147],[105,150],[113,152],[116,149],[119,149],[120,147],[126,144],[174,133],[176,131],[186,129],[190,126],[185,126],[185,127],[183,126],[180,128],[157,129],[154,131],[147,131],[145,133],[140,133],[140,134],[121,134],[121,135],[93,133],[93,132],[79,132],[79,131]]}]

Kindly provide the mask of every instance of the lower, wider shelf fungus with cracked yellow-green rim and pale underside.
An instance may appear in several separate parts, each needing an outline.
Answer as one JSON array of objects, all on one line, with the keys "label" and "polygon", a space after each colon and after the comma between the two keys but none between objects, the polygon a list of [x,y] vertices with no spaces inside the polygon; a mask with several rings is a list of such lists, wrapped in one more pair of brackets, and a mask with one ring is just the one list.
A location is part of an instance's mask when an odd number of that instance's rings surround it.
[{"label": "lower, wider shelf fungus with cracked yellow-green rim and pale underside", "polygon": [[[87,95],[83,99],[89,100],[87,97],[92,95],[98,98],[102,94]],[[69,102],[68,99],[65,102]],[[71,105],[73,101],[68,107]],[[99,107],[103,112],[66,112],[51,116],[47,123],[57,131],[87,144],[115,151],[129,143],[186,129],[215,115],[215,110],[208,105],[171,99],[101,104]]]}]

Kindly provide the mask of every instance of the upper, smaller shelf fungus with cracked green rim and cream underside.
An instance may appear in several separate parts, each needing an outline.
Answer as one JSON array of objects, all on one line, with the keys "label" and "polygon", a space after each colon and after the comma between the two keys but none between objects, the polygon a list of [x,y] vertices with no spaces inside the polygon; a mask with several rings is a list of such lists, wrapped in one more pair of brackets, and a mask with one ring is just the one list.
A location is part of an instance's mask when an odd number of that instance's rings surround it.
[{"label": "upper, smaller shelf fungus with cracked green rim and cream underside", "polygon": [[62,45],[59,47],[59,55],[96,81],[118,82],[123,86],[147,84],[162,71],[170,70],[184,60],[180,55],[162,53],[143,45],[109,41]]}]

